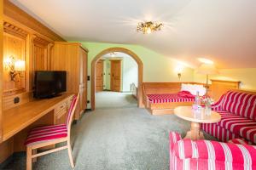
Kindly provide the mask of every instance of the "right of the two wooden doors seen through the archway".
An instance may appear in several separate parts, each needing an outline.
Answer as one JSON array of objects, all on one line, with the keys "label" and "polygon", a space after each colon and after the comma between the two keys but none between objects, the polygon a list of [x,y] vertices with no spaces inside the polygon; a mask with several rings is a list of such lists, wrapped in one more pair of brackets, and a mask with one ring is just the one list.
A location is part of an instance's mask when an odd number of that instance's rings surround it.
[{"label": "right of the two wooden doors seen through the archway", "polygon": [[111,91],[121,91],[121,60],[111,61]]}]

